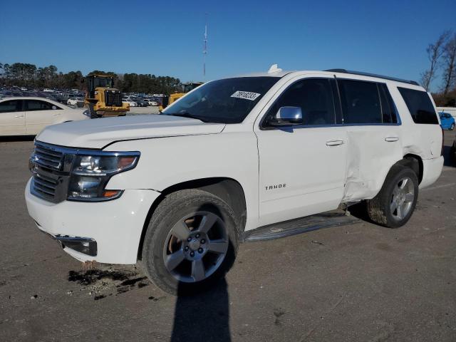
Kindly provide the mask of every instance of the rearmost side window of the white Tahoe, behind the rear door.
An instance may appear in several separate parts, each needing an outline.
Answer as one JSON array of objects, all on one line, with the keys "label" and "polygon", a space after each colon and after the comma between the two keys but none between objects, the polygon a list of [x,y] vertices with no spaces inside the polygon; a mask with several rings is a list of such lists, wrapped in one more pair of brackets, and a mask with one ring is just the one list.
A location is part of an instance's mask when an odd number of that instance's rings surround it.
[{"label": "rearmost side window of the white Tahoe, behind the rear door", "polygon": [[434,105],[425,91],[398,87],[415,123],[438,125]]}]

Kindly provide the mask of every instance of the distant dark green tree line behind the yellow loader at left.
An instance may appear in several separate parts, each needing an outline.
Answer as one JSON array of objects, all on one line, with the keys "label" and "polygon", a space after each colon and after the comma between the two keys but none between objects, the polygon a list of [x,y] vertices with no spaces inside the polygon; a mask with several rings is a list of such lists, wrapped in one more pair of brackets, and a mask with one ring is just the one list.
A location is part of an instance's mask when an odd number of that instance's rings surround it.
[{"label": "distant dark green tree line behind the yellow loader at left", "polygon": [[[94,70],[89,73],[113,76],[115,88],[123,93],[170,94],[181,91],[179,78],[138,73]],[[36,67],[29,63],[0,63],[0,85],[26,88],[79,89],[86,84],[81,71],[59,72],[56,66]]]}]

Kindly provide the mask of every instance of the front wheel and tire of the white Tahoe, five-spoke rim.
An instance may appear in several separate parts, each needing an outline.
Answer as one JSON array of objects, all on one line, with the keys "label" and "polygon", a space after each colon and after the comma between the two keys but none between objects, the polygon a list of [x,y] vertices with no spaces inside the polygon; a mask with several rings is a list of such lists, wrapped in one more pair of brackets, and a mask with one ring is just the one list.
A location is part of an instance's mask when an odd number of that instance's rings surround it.
[{"label": "front wheel and tire of the white Tahoe, five-spoke rim", "polygon": [[239,246],[234,212],[202,190],[180,190],[157,206],[145,234],[142,266],[170,294],[192,294],[220,279]]}]

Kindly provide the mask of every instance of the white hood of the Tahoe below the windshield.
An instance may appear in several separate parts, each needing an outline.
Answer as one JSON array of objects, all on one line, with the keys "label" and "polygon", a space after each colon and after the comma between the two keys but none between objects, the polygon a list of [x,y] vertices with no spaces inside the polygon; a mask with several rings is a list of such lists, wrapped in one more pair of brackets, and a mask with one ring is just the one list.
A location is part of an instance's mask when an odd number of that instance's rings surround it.
[{"label": "white hood of the Tahoe below the windshield", "polygon": [[51,125],[36,140],[68,147],[103,148],[120,140],[220,133],[224,126],[170,115],[132,115]]}]

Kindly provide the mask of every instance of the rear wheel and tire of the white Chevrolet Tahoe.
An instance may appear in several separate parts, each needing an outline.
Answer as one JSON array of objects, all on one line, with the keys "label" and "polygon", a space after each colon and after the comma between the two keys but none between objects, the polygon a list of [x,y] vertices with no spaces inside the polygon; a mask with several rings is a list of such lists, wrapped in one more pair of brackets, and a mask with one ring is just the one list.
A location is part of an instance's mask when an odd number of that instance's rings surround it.
[{"label": "rear wheel and tire of the white Chevrolet Tahoe", "polygon": [[398,228],[408,222],[418,199],[418,177],[412,169],[395,165],[377,196],[367,201],[369,218],[384,227]]}]

